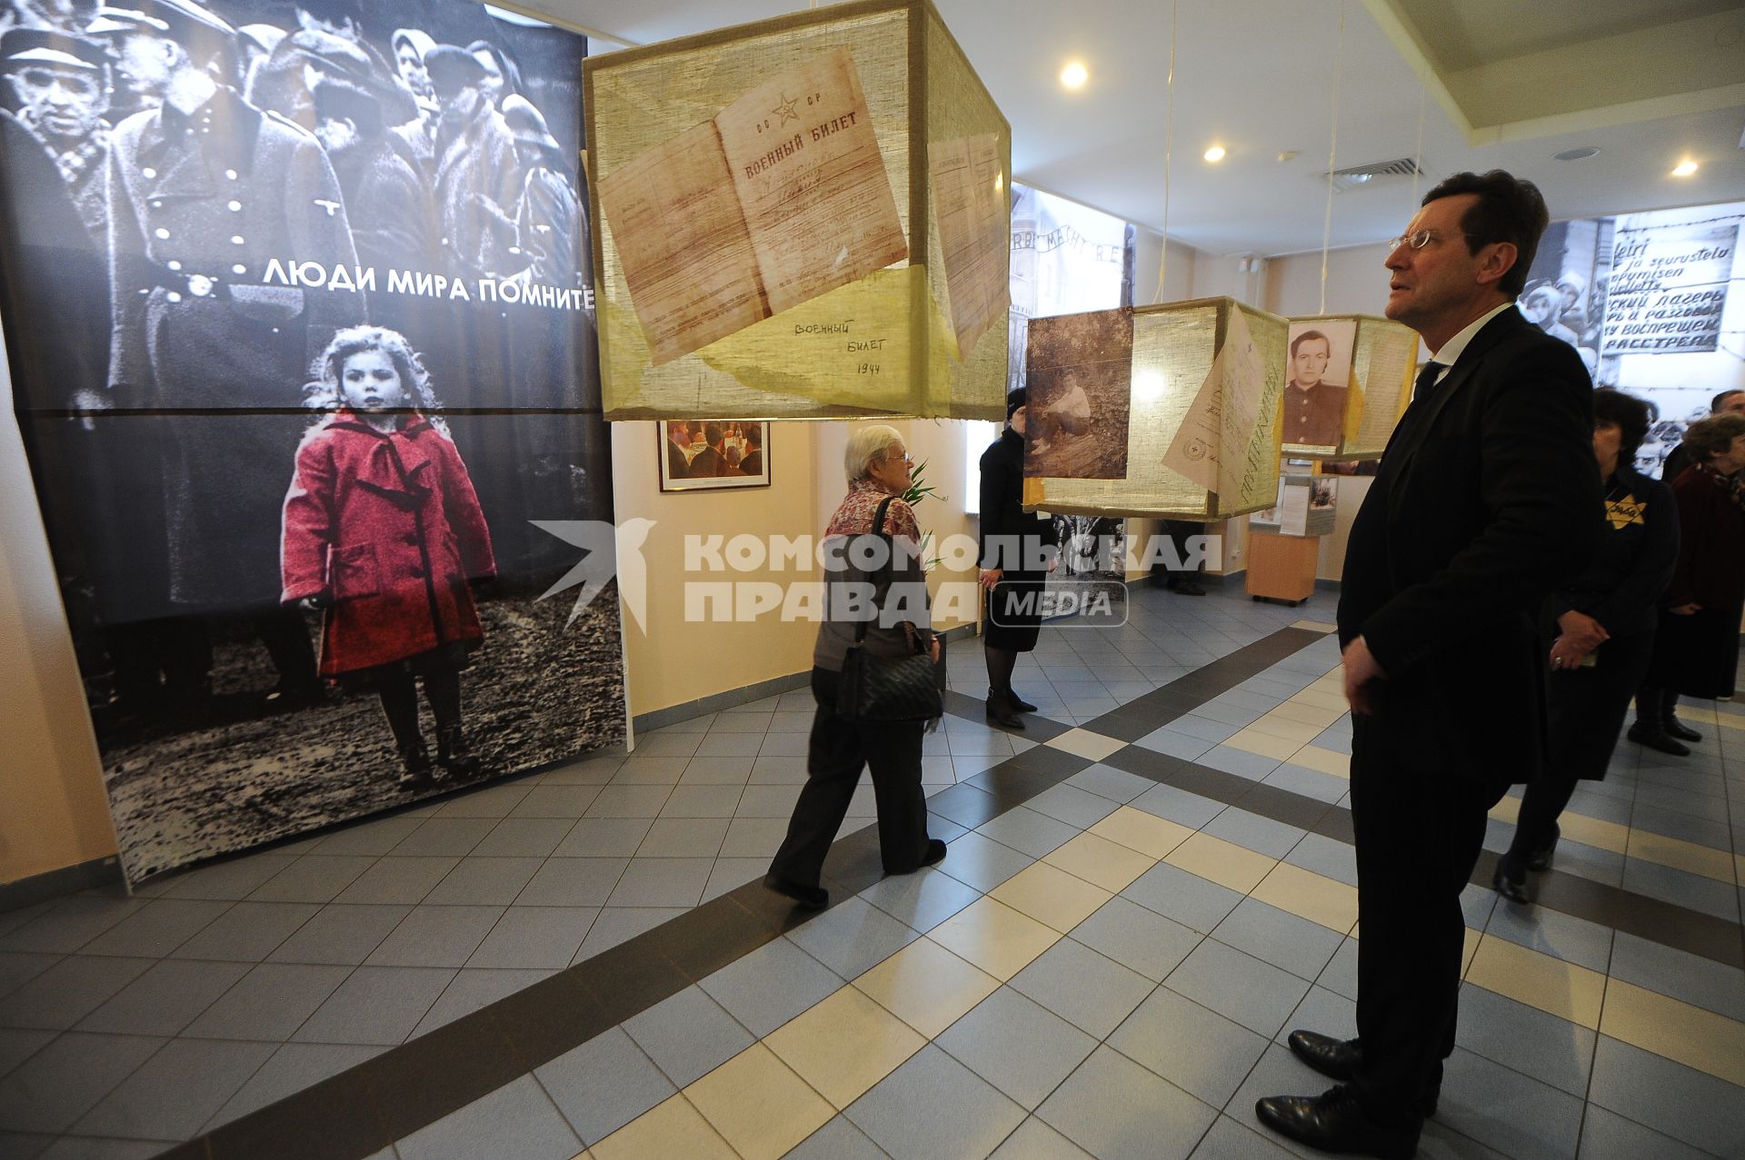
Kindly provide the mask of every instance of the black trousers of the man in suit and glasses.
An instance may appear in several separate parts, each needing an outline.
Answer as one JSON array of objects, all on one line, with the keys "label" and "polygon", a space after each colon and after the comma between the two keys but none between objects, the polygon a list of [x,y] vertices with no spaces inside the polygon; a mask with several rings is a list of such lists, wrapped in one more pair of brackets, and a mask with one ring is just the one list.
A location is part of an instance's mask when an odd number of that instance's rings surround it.
[{"label": "black trousers of the man in suit and glasses", "polygon": [[[1379,745],[1354,717],[1351,818],[1358,846],[1358,1101],[1396,1127],[1422,1123],[1426,1088],[1454,1054],[1466,888],[1502,795],[1464,778],[1426,774],[1422,759]],[[1394,722],[1393,734],[1399,734]]]}]

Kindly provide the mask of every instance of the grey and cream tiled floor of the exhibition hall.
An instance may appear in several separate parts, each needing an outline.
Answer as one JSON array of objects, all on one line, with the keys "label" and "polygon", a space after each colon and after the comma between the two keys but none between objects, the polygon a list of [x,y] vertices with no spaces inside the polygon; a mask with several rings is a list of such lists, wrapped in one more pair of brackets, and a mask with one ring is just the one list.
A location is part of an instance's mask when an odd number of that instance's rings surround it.
[{"label": "grey and cream tiled floor of the exhibition hall", "polygon": [[[1127,628],[1050,628],[1024,658],[1014,684],[1056,722],[1030,736],[981,724],[960,645],[967,696],[927,740],[937,870],[675,975],[478,1099],[431,1092],[380,1155],[1288,1155],[1253,1099],[1324,1082],[1283,1036],[1352,1022],[1349,719],[1328,637],[1241,680],[1220,658],[1330,618],[1328,597],[1141,591]],[[1745,712],[1686,719],[1694,757],[1626,745],[1577,794],[1543,905],[1468,891],[1427,1155],[1745,1155]],[[0,916],[0,1155],[154,1155],[366,1061],[415,1066],[429,1031],[537,1006],[574,963],[633,965],[763,872],[808,724],[784,694],[138,898]],[[850,825],[871,813],[862,792]]]}]

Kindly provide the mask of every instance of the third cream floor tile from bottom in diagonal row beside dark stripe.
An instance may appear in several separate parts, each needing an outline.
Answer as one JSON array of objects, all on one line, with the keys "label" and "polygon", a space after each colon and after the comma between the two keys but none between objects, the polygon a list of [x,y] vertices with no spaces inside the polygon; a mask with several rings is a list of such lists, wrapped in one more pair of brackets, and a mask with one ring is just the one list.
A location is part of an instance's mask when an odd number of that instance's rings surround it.
[{"label": "third cream floor tile from bottom in diagonal row beside dark stripe", "polygon": [[764,1043],[841,1109],[927,1041],[860,991],[843,987],[778,1027]]}]

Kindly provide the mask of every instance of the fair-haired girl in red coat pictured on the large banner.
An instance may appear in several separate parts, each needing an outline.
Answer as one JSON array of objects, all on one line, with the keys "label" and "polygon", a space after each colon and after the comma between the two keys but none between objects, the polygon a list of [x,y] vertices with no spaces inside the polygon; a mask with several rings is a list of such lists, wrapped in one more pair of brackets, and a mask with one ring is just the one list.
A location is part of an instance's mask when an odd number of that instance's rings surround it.
[{"label": "fair-haired girl in red coat pictured on the large banner", "polygon": [[415,679],[436,719],[436,762],[478,773],[461,733],[461,670],[483,630],[469,579],[494,576],[473,480],[448,440],[429,375],[403,335],[333,335],[305,387],[330,412],[297,448],[279,556],[286,604],[325,609],[321,675],[382,698],[405,762],[401,785],[433,778]]}]

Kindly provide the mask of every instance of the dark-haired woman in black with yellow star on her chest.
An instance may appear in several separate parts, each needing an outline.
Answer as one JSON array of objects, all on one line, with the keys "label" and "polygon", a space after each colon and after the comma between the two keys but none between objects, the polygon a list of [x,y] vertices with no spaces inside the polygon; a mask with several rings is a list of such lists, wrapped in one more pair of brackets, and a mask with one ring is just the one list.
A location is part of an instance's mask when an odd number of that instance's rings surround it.
[{"label": "dark-haired woman in black with yellow star on her chest", "polygon": [[1679,558],[1679,523],[1672,488],[1633,466],[1647,424],[1642,399],[1593,392],[1593,457],[1605,483],[1607,532],[1586,570],[1553,597],[1548,761],[1527,787],[1515,843],[1492,877],[1511,902],[1532,902],[1527,870],[1550,862],[1557,818],[1576,781],[1605,776],[1630,694],[1654,651],[1659,595]]}]

